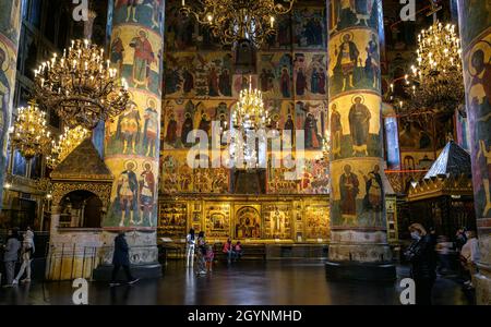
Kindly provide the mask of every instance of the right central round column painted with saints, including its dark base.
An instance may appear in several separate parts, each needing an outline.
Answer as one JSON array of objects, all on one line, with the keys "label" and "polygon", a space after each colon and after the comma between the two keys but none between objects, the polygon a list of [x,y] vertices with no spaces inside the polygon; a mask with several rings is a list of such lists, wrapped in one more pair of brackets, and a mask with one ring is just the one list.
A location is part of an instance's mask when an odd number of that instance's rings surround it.
[{"label": "right central round column painted with saints, including its dark base", "polygon": [[382,1],[328,1],[328,278],[394,279],[385,223],[380,40]]}]

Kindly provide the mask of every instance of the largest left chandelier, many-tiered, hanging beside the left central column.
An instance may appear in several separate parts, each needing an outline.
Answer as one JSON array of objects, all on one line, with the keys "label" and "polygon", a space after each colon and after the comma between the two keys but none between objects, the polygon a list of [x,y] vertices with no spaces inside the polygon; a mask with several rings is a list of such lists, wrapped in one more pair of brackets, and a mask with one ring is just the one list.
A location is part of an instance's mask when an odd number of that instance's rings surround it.
[{"label": "largest left chandelier, many-tiered, hanging beside the left central column", "polygon": [[70,129],[92,130],[127,108],[128,84],[105,60],[104,49],[89,40],[72,40],[63,56],[53,55],[35,71],[35,96],[53,108]]}]

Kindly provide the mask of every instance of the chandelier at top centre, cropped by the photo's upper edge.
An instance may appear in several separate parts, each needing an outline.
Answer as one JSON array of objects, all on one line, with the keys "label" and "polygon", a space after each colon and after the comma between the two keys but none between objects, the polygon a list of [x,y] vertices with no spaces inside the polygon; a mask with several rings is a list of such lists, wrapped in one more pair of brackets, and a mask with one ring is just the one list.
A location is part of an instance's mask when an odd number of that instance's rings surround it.
[{"label": "chandelier at top centre, cropped by the photo's upper edge", "polygon": [[[276,15],[291,11],[295,0],[196,0],[187,5],[182,0],[181,13],[194,15],[209,28],[213,36],[225,45],[243,39],[260,48],[264,40],[276,34]],[[282,3],[283,2],[283,3]]]}]

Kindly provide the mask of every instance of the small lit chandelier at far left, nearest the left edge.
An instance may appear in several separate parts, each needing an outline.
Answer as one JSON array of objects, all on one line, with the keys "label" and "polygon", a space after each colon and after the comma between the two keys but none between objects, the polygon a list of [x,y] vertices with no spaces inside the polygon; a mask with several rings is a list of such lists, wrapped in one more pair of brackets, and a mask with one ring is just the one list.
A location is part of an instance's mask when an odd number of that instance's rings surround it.
[{"label": "small lit chandelier at far left, nearest the left edge", "polygon": [[39,110],[34,101],[17,109],[17,117],[10,129],[10,142],[27,160],[49,150],[51,138],[46,128],[46,112]]}]

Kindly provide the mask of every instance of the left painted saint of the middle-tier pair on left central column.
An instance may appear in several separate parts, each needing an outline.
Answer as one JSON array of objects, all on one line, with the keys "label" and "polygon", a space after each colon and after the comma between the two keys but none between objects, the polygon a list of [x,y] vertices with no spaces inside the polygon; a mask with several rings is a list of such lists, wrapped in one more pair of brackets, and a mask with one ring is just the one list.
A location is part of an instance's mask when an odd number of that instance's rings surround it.
[{"label": "left painted saint of the middle-tier pair on left central column", "polygon": [[140,141],[140,111],[132,100],[128,102],[129,109],[118,118],[118,129],[116,138],[123,145],[123,154],[127,154],[128,146],[131,146],[133,154],[136,154],[135,145]]}]

